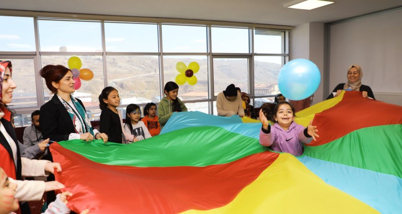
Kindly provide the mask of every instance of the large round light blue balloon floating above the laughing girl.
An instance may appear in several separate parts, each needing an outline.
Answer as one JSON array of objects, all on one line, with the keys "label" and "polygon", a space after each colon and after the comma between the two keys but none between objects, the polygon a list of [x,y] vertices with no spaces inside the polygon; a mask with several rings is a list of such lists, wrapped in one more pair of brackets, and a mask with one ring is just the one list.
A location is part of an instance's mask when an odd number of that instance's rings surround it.
[{"label": "large round light blue balloon floating above the laughing girl", "polygon": [[291,100],[302,100],[311,96],[319,87],[321,74],[317,65],[306,59],[295,59],[286,63],[278,74],[280,93]]}]

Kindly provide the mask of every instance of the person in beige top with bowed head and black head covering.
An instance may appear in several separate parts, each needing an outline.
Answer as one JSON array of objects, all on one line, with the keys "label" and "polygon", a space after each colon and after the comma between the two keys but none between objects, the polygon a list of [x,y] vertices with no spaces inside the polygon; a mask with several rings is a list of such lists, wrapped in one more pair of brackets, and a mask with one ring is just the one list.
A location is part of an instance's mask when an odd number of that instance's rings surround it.
[{"label": "person in beige top with bowed head and black head covering", "polygon": [[239,115],[244,117],[243,101],[234,84],[228,85],[226,90],[220,92],[216,98],[218,116],[231,117]]}]

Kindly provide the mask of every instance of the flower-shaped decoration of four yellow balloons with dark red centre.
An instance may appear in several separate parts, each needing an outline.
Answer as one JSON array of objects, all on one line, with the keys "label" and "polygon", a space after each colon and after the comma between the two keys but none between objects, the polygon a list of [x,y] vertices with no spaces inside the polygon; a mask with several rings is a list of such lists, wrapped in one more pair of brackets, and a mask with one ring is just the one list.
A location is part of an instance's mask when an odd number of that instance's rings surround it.
[{"label": "flower-shaped decoration of four yellow balloons with dark red centre", "polygon": [[178,85],[184,85],[187,82],[188,85],[193,86],[197,83],[198,79],[194,74],[199,70],[198,63],[190,62],[187,67],[184,62],[178,62],[176,70],[179,71],[179,74],[176,76],[176,83]]}]

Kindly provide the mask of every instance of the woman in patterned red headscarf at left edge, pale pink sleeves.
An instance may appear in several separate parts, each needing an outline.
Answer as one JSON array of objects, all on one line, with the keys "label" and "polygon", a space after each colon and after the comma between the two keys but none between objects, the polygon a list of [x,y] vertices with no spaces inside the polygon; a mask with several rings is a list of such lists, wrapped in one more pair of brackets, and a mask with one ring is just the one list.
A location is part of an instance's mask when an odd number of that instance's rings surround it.
[{"label": "woman in patterned red headscarf at left edge, pale pink sleeves", "polygon": [[[7,109],[7,104],[13,98],[13,90],[17,87],[11,78],[12,70],[10,61],[0,61],[0,167],[18,185],[15,198],[19,201],[37,201],[45,191],[58,190],[64,188],[64,185],[58,181],[22,181],[22,176],[47,176],[49,172],[53,173],[54,169],[60,172],[62,168],[59,163],[21,157],[11,123],[11,112]],[[45,141],[49,142],[49,139]],[[21,211],[25,213],[29,211],[29,207],[21,207]]]}]

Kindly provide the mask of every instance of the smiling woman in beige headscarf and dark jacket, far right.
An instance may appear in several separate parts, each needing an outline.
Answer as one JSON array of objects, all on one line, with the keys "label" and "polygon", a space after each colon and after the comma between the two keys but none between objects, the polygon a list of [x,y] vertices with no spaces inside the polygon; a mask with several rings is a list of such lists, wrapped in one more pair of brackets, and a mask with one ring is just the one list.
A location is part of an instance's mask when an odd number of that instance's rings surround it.
[{"label": "smiling woman in beige headscarf and dark jacket, far right", "polygon": [[335,87],[332,93],[327,97],[331,99],[339,96],[339,94],[344,91],[361,91],[363,97],[374,98],[374,93],[372,93],[371,88],[361,84],[361,79],[363,78],[363,71],[359,65],[351,65],[346,74],[348,78],[348,83],[341,83]]}]

